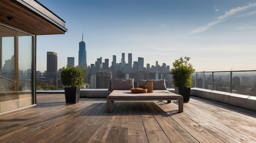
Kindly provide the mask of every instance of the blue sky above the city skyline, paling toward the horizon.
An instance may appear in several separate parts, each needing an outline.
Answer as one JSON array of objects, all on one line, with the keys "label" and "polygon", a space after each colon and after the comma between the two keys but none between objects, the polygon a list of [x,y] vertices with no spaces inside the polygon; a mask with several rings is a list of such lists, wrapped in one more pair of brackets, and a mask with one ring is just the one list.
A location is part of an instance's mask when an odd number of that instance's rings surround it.
[{"label": "blue sky above the city skyline, paling toward the horizon", "polygon": [[132,61],[172,67],[191,57],[196,72],[256,69],[256,0],[38,0],[66,22],[65,35],[37,36],[37,70],[47,52],[58,69],[86,43],[87,64],[132,53]]}]

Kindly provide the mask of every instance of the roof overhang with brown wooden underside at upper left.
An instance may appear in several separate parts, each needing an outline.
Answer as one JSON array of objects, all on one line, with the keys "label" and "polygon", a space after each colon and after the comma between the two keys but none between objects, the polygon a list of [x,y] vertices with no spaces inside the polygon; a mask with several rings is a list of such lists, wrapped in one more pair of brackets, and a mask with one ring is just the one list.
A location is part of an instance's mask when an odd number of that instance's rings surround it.
[{"label": "roof overhang with brown wooden underside at upper left", "polygon": [[0,22],[34,35],[67,32],[65,21],[37,0],[0,0]]}]

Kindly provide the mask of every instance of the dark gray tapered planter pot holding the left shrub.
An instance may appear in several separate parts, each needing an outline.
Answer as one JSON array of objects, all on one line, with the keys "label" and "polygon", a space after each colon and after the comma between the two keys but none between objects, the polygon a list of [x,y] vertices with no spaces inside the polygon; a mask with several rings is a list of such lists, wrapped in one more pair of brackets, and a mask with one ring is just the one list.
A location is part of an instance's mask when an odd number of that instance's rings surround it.
[{"label": "dark gray tapered planter pot holding the left shrub", "polygon": [[75,104],[79,102],[80,89],[78,88],[65,88],[66,104]]}]

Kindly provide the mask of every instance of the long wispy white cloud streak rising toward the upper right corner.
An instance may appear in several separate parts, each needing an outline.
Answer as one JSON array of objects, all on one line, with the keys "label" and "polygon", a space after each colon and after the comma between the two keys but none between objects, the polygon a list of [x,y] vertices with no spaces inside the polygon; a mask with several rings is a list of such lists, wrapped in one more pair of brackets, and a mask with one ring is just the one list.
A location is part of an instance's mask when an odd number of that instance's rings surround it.
[{"label": "long wispy white cloud streak rising toward the upper right corner", "polygon": [[[206,26],[202,26],[202,27],[199,27],[197,29],[194,29],[194,30],[191,31],[191,33],[204,32],[208,29],[211,29],[211,26],[214,26],[214,25],[216,25],[220,22],[223,22],[223,21],[227,20],[227,17],[229,17],[230,15],[234,15],[235,13],[238,13],[240,11],[245,11],[245,10],[251,8],[251,7],[256,7],[256,3],[249,4],[249,5],[243,6],[243,7],[237,7],[237,8],[234,8],[234,9],[230,9],[229,11],[226,11],[224,15],[221,15],[221,16],[217,17],[217,21],[210,22]],[[254,14],[254,12],[251,12],[250,14]]]}]

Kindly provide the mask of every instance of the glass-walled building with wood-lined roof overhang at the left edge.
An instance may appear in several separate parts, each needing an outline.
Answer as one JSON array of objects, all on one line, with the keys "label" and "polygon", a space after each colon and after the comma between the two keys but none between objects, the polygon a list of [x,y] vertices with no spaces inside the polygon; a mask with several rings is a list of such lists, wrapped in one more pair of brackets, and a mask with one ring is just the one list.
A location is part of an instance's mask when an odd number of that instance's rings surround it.
[{"label": "glass-walled building with wood-lined roof overhang at the left edge", "polygon": [[0,0],[0,114],[36,105],[36,36],[65,22],[34,0]]}]

